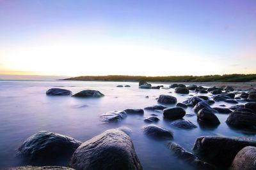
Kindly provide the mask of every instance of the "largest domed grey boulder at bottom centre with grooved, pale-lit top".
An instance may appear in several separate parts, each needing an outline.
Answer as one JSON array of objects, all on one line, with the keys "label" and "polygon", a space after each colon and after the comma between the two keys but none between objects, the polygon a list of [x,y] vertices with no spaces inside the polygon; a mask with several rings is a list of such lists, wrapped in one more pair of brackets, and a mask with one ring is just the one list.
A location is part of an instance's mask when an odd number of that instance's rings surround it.
[{"label": "largest domed grey boulder at bottom centre with grooved, pale-lit top", "polygon": [[84,169],[142,169],[131,138],[117,129],[95,136],[74,152],[70,167]]}]

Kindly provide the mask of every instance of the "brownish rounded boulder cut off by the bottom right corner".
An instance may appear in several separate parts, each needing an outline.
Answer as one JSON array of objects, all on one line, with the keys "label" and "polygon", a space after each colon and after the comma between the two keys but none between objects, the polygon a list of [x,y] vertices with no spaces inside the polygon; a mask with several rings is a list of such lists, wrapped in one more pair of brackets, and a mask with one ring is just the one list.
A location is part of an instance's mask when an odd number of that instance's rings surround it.
[{"label": "brownish rounded boulder cut off by the bottom right corner", "polygon": [[256,169],[256,147],[246,146],[240,150],[232,162],[231,170]]}]

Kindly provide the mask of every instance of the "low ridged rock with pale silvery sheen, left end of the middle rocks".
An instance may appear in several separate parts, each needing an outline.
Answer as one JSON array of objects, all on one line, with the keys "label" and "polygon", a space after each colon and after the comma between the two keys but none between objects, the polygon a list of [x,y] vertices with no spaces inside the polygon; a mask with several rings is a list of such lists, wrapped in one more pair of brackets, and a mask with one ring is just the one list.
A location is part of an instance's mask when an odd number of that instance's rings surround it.
[{"label": "low ridged rock with pale silvery sheen, left end of the middle rocks", "polygon": [[100,117],[102,122],[117,122],[127,117],[127,113],[125,111],[108,111]]}]

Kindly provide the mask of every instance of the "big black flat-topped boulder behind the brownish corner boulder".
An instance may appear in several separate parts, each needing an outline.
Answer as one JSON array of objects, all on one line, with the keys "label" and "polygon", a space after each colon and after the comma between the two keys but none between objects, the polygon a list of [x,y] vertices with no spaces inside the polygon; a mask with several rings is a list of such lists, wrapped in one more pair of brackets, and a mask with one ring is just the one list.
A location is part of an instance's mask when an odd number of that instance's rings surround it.
[{"label": "big black flat-topped boulder behind the brownish corner boulder", "polygon": [[206,162],[218,167],[229,167],[236,154],[246,146],[256,146],[250,138],[226,138],[221,136],[202,136],[196,139],[193,150]]}]

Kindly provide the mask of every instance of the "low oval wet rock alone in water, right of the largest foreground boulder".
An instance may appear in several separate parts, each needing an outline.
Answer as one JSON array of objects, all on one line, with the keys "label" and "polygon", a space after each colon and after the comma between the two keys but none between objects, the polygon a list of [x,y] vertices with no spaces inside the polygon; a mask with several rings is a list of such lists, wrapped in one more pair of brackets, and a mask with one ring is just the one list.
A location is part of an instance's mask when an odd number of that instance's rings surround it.
[{"label": "low oval wet rock alone in water, right of the largest foreground boulder", "polygon": [[142,128],[144,134],[152,138],[173,138],[172,132],[157,125],[147,125]]}]

